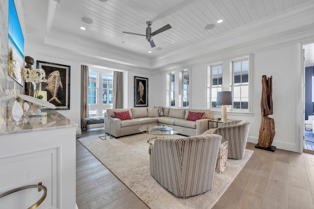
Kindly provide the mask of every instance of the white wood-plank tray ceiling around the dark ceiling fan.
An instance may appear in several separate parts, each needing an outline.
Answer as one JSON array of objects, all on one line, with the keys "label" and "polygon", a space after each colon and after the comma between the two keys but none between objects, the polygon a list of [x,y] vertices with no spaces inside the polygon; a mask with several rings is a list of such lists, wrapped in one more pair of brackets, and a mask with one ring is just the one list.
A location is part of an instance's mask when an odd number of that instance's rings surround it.
[{"label": "white wood-plank tray ceiling around the dark ceiling fan", "polygon": [[[86,48],[93,43],[104,50],[156,59],[310,2],[313,0],[23,0],[23,7],[26,32],[32,34],[32,40],[53,36]],[[36,17],[39,14],[42,16]],[[84,23],[82,17],[93,23]],[[217,23],[220,19],[223,22]],[[155,48],[151,48],[145,36],[122,33],[145,34],[147,21],[153,22],[152,32],[168,23],[172,26],[153,37]],[[46,28],[34,34],[38,22]],[[215,27],[206,30],[207,24]],[[86,30],[81,30],[81,26]],[[158,47],[161,49],[156,50]]]}]

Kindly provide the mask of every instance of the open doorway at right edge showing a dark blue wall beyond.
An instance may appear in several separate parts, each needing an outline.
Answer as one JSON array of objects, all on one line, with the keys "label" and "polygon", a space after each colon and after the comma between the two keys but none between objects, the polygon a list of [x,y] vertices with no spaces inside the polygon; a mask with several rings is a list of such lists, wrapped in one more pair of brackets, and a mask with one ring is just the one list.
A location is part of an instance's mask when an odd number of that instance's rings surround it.
[{"label": "open doorway at right edge showing a dark blue wall beyond", "polygon": [[303,45],[304,52],[304,146],[303,151],[314,153],[314,43]]}]

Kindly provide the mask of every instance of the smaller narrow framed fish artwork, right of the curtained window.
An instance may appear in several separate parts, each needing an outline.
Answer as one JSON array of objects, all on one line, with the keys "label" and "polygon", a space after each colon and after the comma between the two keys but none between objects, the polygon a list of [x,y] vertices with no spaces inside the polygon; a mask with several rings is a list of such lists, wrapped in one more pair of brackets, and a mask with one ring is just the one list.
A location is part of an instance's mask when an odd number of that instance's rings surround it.
[{"label": "smaller narrow framed fish artwork, right of the curtained window", "polygon": [[134,107],[148,107],[148,78],[134,76]]}]

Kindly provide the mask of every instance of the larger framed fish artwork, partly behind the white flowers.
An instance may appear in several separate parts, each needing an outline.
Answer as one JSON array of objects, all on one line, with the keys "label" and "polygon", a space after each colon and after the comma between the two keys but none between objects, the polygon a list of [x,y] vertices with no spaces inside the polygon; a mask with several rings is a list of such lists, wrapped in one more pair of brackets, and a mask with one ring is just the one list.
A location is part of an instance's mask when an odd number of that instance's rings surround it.
[{"label": "larger framed fish artwork, partly behind the white flowers", "polygon": [[41,91],[47,91],[47,101],[55,110],[70,110],[70,66],[38,60],[36,64],[46,72],[47,82],[41,83]]}]

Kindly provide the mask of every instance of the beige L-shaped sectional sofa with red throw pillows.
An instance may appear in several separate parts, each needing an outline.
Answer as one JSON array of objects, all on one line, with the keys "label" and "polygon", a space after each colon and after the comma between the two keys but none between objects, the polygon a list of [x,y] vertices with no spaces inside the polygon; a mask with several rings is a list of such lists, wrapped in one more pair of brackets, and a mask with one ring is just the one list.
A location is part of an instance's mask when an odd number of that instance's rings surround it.
[{"label": "beige L-shaped sectional sofa with red throw pillows", "polygon": [[[159,110],[159,113],[158,113]],[[128,109],[107,109],[105,118],[105,131],[114,137],[121,137],[130,134],[140,133],[138,130],[143,125],[163,124],[169,127],[182,127],[185,136],[196,136],[208,130],[208,120],[213,118],[211,110],[191,110],[175,108],[128,108]],[[114,112],[129,111],[131,119],[120,120],[115,117]],[[203,119],[196,121],[186,120],[189,111],[205,113]]]}]

